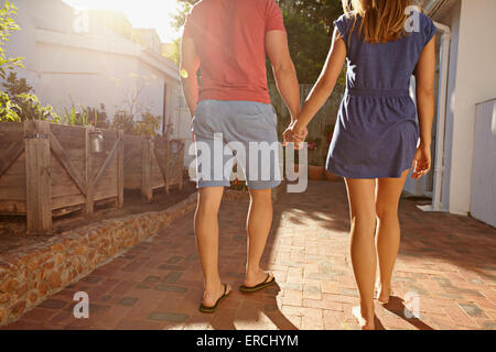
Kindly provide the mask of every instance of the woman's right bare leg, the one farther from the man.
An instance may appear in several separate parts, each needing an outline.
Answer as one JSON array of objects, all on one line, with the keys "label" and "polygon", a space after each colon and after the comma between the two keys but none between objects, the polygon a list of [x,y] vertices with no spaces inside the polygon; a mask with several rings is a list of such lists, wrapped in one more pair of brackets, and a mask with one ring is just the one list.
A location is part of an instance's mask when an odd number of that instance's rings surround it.
[{"label": "woman's right bare leg, the one farther from the man", "polygon": [[378,300],[380,302],[388,302],[391,294],[392,268],[400,244],[398,205],[408,174],[409,170],[406,170],[401,178],[379,178],[377,182],[377,253],[380,273]]}]

